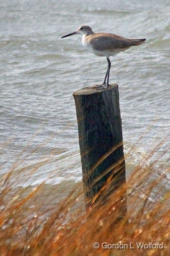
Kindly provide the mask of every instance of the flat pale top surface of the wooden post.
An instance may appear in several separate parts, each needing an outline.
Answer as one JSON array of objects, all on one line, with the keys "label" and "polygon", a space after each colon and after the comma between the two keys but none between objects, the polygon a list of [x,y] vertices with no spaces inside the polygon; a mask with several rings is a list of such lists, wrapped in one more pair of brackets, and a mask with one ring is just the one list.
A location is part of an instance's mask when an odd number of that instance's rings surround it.
[{"label": "flat pale top surface of the wooden post", "polygon": [[109,84],[109,87],[107,89],[101,89],[101,90],[97,90],[96,86],[92,86],[92,87],[85,87],[81,90],[78,90],[76,92],[73,93],[73,96],[78,96],[78,95],[91,95],[91,94],[95,94],[95,93],[101,93],[101,92],[106,92],[108,90],[112,90],[113,88],[118,87],[118,84],[116,83],[112,83]]}]

